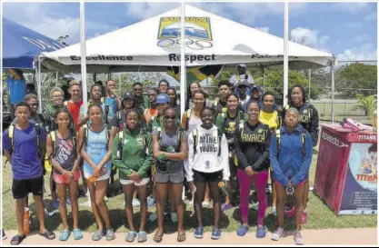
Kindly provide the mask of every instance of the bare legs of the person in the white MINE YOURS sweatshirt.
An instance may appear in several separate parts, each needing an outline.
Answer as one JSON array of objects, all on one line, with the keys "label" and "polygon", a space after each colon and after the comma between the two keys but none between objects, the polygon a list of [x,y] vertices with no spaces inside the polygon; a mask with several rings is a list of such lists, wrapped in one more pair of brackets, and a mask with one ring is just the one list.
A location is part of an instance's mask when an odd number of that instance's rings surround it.
[{"label": "bare legs of the person in the white MINE YOURS sweatshirt", "polygon": [[218,188],[218,182],[194,182],[196,192],[194,193],[194,212],[196,213],[197,226],[203,226],[202,203],[206,184],[209,186],[209,193],[214,202],[214,227],[218,228],[221,217],[221,193]]}]

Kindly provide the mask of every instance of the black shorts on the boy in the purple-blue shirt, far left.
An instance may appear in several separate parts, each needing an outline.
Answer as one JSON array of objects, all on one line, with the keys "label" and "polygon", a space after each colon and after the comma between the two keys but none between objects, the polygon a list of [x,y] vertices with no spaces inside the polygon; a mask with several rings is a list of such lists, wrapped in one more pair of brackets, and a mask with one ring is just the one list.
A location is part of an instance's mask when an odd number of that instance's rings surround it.
[{"label": "black shorts on the boy in the purple-blue shirt, far left", "polygon": [[44,194],[44,176],[25,180],[14,179],[12,193],[15,200],[23,199],[28,193],[42,196]]}]

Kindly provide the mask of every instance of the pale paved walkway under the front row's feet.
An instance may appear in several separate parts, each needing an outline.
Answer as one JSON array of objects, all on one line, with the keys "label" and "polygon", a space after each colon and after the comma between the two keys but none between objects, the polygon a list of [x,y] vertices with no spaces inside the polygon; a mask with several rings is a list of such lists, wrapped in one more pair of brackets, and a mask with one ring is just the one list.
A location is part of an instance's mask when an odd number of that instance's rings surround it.
[{"label": "pale paved walkway under the front row's feet", "polygon": [[[8,246],[15,231],[7,231],[7,239],[3,242],[4,246]],[[75,241],[71,234],[68,241],[60,242],[58,240],[59,233],[55,233],[56,238],[54,241],[48,241],[38,234],[31,234],[25,238],[22,244],[24,245],[127,245],[125,242],[125,233],[115,233],[116,238],[114,241],[107,242],[105,238],[101,241],[94,242],[91,239],[91,233],[84,233],[85,237],[80,241]],[[271,233],[267,233],[264,239],[255,238],[255,233],[247,233],[244,237],[239,237],[235,233],[222,233],[220,240],[211,240],[211,233],[204,233],[203,239],[195,239],[193,233],[186,233],[187,239],[185,243],[178,243],[176,241],[177,233],[165,234],[162,243],[155,243],[153,241],[154,233],[147,235],[148,241],[141,243],[142,245],[294,245],[294,237],[291,232],[286,233],[286,236],[278,242],[270,239]],[[324,229],[324,230],[304,230],[302,231],[304,244],[331,244],[331,245],[376,245],[377,244],[377,228],[363,228],[363,229]],[[137,241],[133,245],[138,245]]]}]

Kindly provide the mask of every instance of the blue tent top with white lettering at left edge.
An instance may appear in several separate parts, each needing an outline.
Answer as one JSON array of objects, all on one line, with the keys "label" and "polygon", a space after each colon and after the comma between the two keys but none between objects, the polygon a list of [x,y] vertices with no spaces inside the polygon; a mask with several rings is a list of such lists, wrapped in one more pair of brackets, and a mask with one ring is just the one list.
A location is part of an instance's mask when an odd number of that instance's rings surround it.
[{"label": "blue tent top with white lettering at left edge", "polygon": [[59,42],[3,18],[3,68],[33,69],[42,52],[63,48]]}]

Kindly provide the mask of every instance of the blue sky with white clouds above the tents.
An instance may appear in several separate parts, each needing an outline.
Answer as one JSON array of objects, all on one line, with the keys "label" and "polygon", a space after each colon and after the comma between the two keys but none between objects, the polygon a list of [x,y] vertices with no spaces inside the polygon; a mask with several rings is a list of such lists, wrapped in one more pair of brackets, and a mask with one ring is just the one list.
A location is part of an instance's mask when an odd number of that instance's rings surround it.
[{"label": "blue sky with white clouds above the tents", "polygon": [[[188,2],[235,22],[284,36],[284,3]],[[103,35],[178,7],[179,3],[86,3],[87,38]],[[15,15],[18,13],[18,15]],[[80,41],[78,3],[3,3],[3,16],[51,38]],[[340,60],[376,60],[376,3],[290,3],[289,37]],[[3,34],[5,35],[5,34]]]}]

